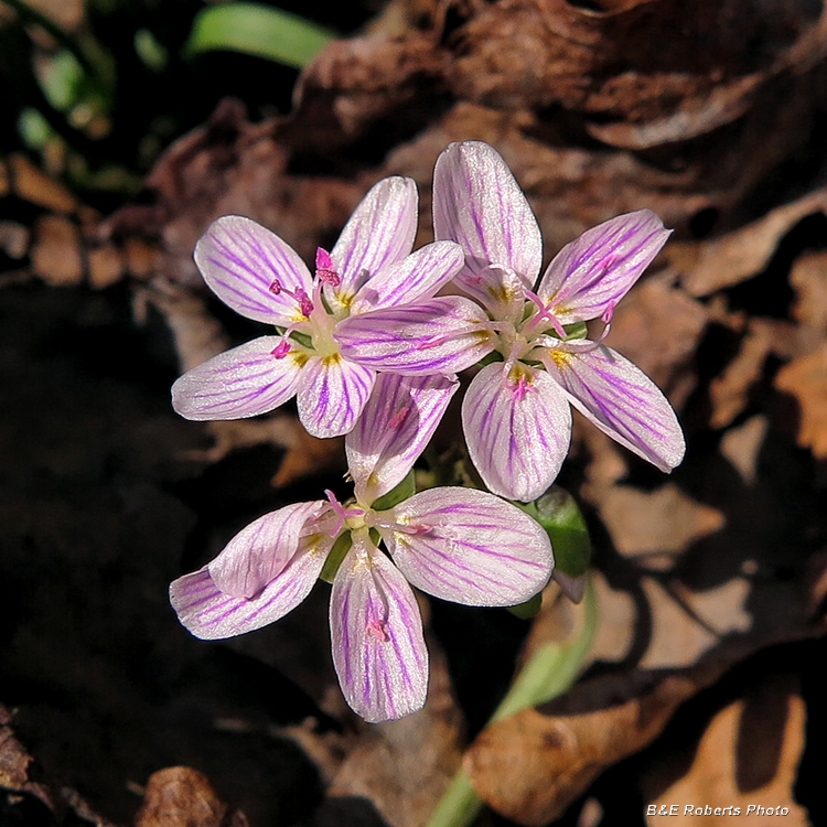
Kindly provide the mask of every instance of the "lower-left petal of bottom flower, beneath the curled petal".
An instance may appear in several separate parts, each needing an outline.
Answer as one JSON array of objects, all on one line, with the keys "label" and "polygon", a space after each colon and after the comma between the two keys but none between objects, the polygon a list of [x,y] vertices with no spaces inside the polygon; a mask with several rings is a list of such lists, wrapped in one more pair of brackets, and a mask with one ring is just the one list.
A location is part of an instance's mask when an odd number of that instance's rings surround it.
[{"label": "lower-left petal of bottom flower, beneath the curled petal", "polygon": [[205,566],[172,582],[170,602],[181,623],[202,640],[251,632],[283,617],[310,594],[332,545],[326,535],[304,537],[289,563],[255,598],[226,594]]}]

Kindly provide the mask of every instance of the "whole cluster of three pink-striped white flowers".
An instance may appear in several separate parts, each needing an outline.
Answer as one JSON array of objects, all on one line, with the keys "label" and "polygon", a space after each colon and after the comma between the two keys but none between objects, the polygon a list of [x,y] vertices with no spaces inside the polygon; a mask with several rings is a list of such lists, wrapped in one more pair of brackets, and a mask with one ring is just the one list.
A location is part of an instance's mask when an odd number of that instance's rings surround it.
[{"label": "whole cluster of three pink-striped white flowers", "polygon": [[[411,253],[416,222],[414,182],[380,181],[333,249],[319,249],[311,277],[255,222],[216,221],[195,249],[204,279],[276,332],[173,386],[173,405],[190,419],[256,416],[296,396],[310,433],[346,434],[352,501],[326,492],[260,517],[173,582],[171,600],[196,636],[228,637],[283,616],[324,572],[340,684],[369,721],[425,702],[428,655],[410,586],[471,605],[514,605],[548,581],[548,535],[506,500],[529,502],[551,485],[569,447],[570,406],[664,471],[684,454],[663,394],[602,344],[614,307],[669,235],[653,213],[590,229],[535,288],[543,248],[534,214],[503,159],[470,141],[438,160],[437,240]],[[437,296],[449,283],[463,296]],[[587,337],[592,321],[603,324],[595,340]],[[457,374],[475,365],[462,422],[492,493],[415,493],[414,463]]]}]

